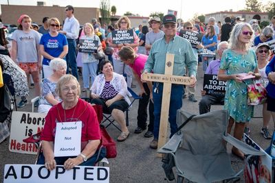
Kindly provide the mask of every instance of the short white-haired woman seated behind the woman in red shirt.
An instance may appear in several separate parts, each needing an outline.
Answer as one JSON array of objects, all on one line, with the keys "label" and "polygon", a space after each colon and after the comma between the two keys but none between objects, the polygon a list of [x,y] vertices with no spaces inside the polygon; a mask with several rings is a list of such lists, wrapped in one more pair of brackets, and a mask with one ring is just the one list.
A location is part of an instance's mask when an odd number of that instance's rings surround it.
[{"label": "short white-haired woman seated behind the woman in red shirt", "polygon": [[38,112],[45,114],[49,112],[52,106],[61,102],[61,99],[56,94],[56,83],[66,74],[67,63],[61,58],[54,58],[50,62],[50,69],[52,69],[54,73],[43,80],[42,97],[39,99]]}]

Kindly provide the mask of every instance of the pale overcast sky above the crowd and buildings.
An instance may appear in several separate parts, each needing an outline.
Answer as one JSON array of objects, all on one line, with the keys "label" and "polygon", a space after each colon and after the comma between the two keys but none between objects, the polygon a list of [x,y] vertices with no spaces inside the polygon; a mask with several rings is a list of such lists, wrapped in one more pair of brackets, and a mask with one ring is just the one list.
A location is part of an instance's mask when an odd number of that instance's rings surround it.
[{"label": "pale overcast sky above the crowd and buildings", "polygon": [[[41,0],[46,5],[66,6],[71,4],[76,7],[96,7],[99,8],[100,0]],[[274,0],[259,0],[263,4]],[[36,5],[36,0],[9,0],[10,5]],[[0,0],[1,4],[8,4],[8,0]],[[111,5],[115,5],[117,14],[122,15],[125,12],[149,16],[151,12],[163,12],[167,14],[168,10],[176,10],[177,18],[184,21],[192,19],[194,14],[207,14],[210,12],[219,12],[232,9],[233,11],[245,8],[245,0],[110,0]]]}]

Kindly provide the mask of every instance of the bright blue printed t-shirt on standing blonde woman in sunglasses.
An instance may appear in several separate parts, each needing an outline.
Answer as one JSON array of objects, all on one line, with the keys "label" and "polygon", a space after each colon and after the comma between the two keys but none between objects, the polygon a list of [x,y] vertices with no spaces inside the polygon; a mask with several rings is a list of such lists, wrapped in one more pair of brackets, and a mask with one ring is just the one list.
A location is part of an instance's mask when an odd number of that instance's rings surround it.
[{"label": "bright blue printed t-shirt on standing blonde woman in sunglasses", "polygon": [[[68,42],[66,36],[63,34],[58,34],[56,37],[52,37],[48,33],[41,37],[39,44],[44,46],[45,52],[50,54],[50,56],[57,58],[62,53],[63,47],[68,45]],[[49,65],[50,61],[50,59],[44,57],[42,63],[43,65]]]}]

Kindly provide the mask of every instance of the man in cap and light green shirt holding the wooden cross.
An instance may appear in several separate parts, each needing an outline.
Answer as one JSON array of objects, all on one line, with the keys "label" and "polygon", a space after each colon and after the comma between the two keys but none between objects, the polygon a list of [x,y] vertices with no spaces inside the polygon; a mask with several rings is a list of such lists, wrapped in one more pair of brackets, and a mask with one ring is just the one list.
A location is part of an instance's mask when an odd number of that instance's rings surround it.
[{"label": "man in cap and light green shirt holding the wooden cross", "polygon": [[[153,71],[154,74],[164,75],[164,72],[166,73],[166,66],[172,65],[173,68],[170,69],[171,75],[184,76],[186,74],[187,68],[190,79],[192,80],[190,86],[194,87],[197,81],[195,77],[195,75],[197,74],[197,59],[192,51],[190,42],[188,42],[188,40],[186,40],[185,38],[181,38],[176,35],[176,22],[176,17],[173,14],[167,14],[166,16],[164,16],[164,37],[154,42],[148,56],[148,60],[146,61],[146,64],[144,66],[144,73],[151,73]],[[166,59],[171,59],[174,61],[166,62]],[[162,108],[162,92],[163,90],[165,91],[165,84],[162,82],[155,82],[153,86],[155,121],[153,132],[154,139],[150,144],[150,147],[152,149],[157,149],[159,135],[162,135],[159,134],[159,121],[161,113],[168,113],[168,120],[170,122],[170,137],[173,136],[173,134],[175,134],[177,130],[176,114],[177,110],[182,106],[181,97],[184,88],[181,83],[170,83],[171,85],[168,88],[170,92],[168,92],[168,96],[164,96],[166,97],[166,99],[168,98],[168,101],[170,101],[170,108],[167,109],[165,108],[165,106],[163,106]],[[168,110],[169,112],[167,112],[166,110]],[[164,135],[164,137],[166,137],[166,134]]]}]

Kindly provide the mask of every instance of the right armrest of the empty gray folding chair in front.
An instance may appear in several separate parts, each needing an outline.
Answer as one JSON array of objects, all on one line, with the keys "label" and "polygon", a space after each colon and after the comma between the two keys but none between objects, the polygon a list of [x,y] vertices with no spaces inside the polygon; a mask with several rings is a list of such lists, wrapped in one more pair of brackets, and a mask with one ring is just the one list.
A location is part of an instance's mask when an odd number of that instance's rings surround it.
[{"label": "right armrest of the empty gray folding chair in front", "polygon": [[254,149],[250,145],[247,145],[246,143],[239,141],[238,139],[234,138],[230,134],[223,135],[223,139],[228,143],[230,143],[231,145],[234,145],[234,147],[236,147],[237,149],[240,149],[244,154],[251,154],[254,156],[265,155],[264,152]]}]

